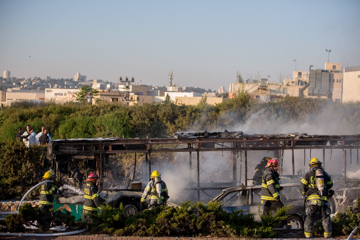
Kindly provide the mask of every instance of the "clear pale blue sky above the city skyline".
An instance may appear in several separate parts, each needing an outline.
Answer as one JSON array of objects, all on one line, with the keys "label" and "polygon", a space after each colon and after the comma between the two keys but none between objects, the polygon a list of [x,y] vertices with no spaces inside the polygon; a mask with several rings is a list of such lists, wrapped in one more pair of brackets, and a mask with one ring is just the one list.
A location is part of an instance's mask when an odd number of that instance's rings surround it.
[{"label": "clear pale blue sky above the city skyline", "polygon": [[[217,90],[259,73],[360,65],[360,1],[1,0],[0,70]],[[31,56],[31,57],[29,57]]]}]

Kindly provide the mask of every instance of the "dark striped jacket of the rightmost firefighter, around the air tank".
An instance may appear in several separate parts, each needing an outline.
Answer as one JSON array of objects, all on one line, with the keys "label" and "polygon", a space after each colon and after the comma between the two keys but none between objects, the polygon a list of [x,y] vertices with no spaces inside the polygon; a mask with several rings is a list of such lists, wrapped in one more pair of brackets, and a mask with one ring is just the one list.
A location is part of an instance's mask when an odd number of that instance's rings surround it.
[{"label": "dark striped jacket of the rightmost firefighter, around the air tank", "polygon": [[306,200],[308,205],[320,205],[323,206],[325,201],[329,200],[328,190],[333,187],[333,181],[331,180],[330,175],[323,170],[324,174],[324,190],[321,195],[318,187],[316,187],[316,177],[315,170],[320,168],[319,166],[315,166],[310,169],[309,172],[305,174],[305,176],[301,179],[301,192],[303,195],[306,195]]}]

